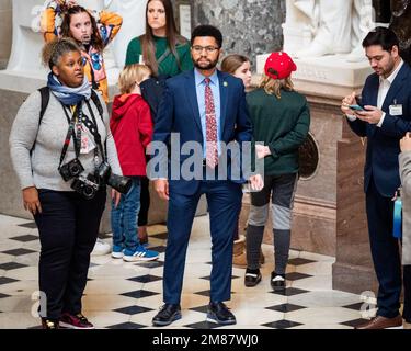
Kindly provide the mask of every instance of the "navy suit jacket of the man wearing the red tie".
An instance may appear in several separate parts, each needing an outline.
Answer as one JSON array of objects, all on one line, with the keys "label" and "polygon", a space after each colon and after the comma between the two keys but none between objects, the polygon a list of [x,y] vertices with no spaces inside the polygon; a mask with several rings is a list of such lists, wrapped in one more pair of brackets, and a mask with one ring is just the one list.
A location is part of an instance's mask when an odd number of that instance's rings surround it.
[{"label": "navy suit jacket of the man wearing the red tie", "polygon": [[[231,75],[217,71],[220,89],[220,140],[228,144],[250,141],[250,122],[244,86]],[[185,71],[165,82],[163,98],[155,121],[153,141],[170,143],[170,134],[180,133],[181,146],[197,141],[203,146],[202,123],[198,111],[194,70]],[[180,155],[180,169],[190,155]],[[229,170],[228,170],[229,172]],[[170,190],[181,194],[194,194],[198,180],[170,180]]]}]

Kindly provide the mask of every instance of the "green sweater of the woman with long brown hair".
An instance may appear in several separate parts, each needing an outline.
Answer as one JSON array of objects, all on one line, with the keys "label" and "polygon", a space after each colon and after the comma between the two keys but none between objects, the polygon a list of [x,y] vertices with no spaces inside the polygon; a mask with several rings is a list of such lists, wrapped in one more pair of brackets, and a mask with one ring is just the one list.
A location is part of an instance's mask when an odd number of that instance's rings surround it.
[{"label": "green sweater of the woman with long brown hair", "polygon": [[[159,59],[161,55],[167,49],[167,38],[155,36],[155,46],[156,46],[156,58]],[[181,73],[182,71],[190,70],[193,68],[193,61],[190,55],[190,43],[185,44],[178,44],[176,45],[176,53],[180,58],[180,66],[176,63],[174,55],[170,52],[170,54],[162,60],[159,66],[159,75],[167,75],[167,76],[175,76]],[[139,57],[142,55],[140,39],[135,37],[132,39],[127,47],[127,56],[126,56],[126,65],[138,64]]]}]

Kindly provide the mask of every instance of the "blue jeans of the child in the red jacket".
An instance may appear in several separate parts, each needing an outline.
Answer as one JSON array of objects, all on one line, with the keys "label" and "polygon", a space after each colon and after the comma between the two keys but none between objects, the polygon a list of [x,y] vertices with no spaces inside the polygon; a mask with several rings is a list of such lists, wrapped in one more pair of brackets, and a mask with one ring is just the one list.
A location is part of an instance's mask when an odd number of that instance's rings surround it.
[{"label": "blue jeans of the child in the red jacket", "polygon": [[137,220],[140,211],[140,177],[130,177],[133,186],[115,207],[112,201],[113,245],[135,250],[138,245]]}]

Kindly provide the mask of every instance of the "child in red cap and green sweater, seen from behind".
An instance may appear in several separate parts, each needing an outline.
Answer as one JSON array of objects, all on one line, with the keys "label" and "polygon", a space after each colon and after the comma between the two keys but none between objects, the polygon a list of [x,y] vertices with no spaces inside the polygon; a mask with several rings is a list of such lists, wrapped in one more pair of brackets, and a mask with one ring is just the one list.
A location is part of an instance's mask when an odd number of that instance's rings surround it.
[{"label": "child in red cap and green sweater, seen from behind", "polygon": [[274,291],[286,286],[292,208],[298,180],[298,147],[306,139],[310,124],[307,100],[293,89],[290,73],[296,69],[286,53],[271,54],[260,88],[247,95],[256,157],[264,158],[264,186],[260,192],[251,193],[246,286],[255,286],[261,281],[259,258],[270,199],[275,247],[271,286]]}]

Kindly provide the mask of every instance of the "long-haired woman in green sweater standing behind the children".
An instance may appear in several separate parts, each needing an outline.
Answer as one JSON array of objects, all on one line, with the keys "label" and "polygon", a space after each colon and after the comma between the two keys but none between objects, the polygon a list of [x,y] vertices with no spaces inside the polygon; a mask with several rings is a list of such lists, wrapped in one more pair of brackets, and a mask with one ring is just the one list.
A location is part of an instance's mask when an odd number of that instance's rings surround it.
[{"label": "long-haired woman in green sweater standing behind the children", "polygon": [[[147,2],[146,33],[133,38],[128,44],[126,65],[142,63],[150,67],[152,76],[158,77],[160,82],[193,68],[190,42],[179,35],[176,31],[170,0],[149,0]],[[141,87],[141,89],[144,88]],[[152,93],[157,94],[155,90],[152,90]],[[155,113],[152,104],[159,102],[159,97],[144,94],[144,98],[150,104],[151,112]],[[141,244],[147,242],[147,222],[150,206],[148,185],[148,179],[142,178],[141,207],[138,216],[138,236]]]}]

